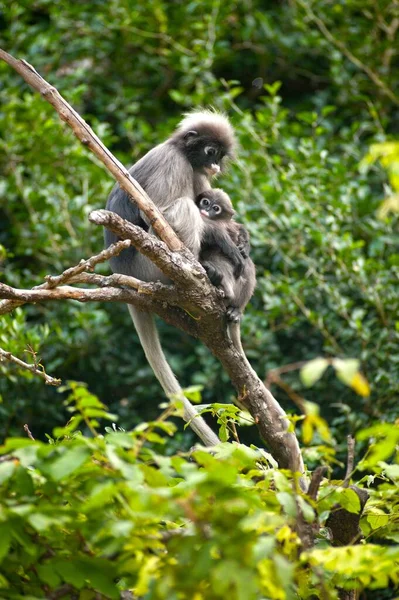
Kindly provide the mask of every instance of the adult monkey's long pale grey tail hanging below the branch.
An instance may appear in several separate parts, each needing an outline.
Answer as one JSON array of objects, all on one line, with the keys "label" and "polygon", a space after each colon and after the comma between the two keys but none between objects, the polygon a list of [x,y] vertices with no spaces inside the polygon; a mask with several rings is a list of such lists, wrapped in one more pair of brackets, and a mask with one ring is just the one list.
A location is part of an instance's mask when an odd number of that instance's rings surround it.
[{"label": "adult monkey's long pale grey tail hanging below the branch", "polygon": [[204,419],[198,416],[194,406],[183,394],[179,382],[163,353],[154,316],[151,313],[138,310],[131,304],[128,308],[146,358],[167,397],[172,400],[178,398],[182,401],[184,420],[189,422],[191,429],[195,431],[205,446],[215,446],[220,443],[217,435],[205,423]]}]

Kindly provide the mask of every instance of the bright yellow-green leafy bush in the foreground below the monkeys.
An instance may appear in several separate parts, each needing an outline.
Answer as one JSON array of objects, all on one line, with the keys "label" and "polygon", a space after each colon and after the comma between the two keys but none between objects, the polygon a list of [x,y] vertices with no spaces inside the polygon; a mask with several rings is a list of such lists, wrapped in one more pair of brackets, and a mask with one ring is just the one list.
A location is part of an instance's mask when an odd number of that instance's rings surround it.
[{"label": "bright yellow-green leafy bush in the foreground below the monkeys", "polygon": [[[398,585],[399,471],[384,462],[399,441],[392,425],[359,435],[375,439],[358,465],[370,486],[368,543],[339,548],[328,516],[337,502],[360,508],[342,482],[322,484],[313,501],[262,450],[167,456],[166,413],[103,436],[98,418],[115,417],[93,395],[72,383],[68,405],[72,419],[49,443],[14,438],[1,449],[1,597],[117,599],[129,589],[147,600],[333,600],[337,587],[357,587],[375,599]],[[81,435],[82,422],[95,437]],[[299,510],[318,532],[305,552]]]}]

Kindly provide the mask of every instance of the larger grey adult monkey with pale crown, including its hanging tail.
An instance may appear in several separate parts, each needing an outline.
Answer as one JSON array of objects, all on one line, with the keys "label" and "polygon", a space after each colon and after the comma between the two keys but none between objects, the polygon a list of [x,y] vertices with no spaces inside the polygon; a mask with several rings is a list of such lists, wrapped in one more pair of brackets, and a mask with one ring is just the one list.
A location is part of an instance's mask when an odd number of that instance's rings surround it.
[{"label": "larger grey adult monkey with pale crown, including its hanging tail", "polygon": [[[234,130],[227,117],[209,110],[192,112],[185,116],[166,142],[150,150],[129,170],[196,258],[205,225],[194,199],[210,189],[210,179],[221,171],[223,160],[232,155],[234,145]],[[112,189],[106,208],[152,233],[146,216],[119,184]],[[117,241],[117,236],[107,229],[104,237],[106,247]],[[238,269],[242,265],[238,249],[235,263]],[[169,281],[134,248],[127,248],[111,258],[110,265],[114,273],[131,275],[142,281]],[[169,398],[181,398],[184,418],[190,421],[190,426],[206,445],[217,444],[218,437],[202,418],[197,417],[166,361],[153,314],[132,305],[128,308],[146,358],[165,394]]]}]

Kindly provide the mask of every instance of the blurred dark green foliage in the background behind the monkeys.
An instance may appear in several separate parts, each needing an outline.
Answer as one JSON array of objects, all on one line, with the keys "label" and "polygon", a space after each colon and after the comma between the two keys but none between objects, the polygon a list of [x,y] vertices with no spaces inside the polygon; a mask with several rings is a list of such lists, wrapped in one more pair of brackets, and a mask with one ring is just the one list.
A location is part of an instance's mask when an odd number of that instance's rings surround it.
[{"label": "blurred dark green foliage in the background behind the monkeys", "polygon": [[[359,164],[398,134],[398,27],[397,2],[374,0],[29,0],[1,9],[1,47],[33,64],[127,166],[183,111],[227,111],[240,147],[218,183],[251,232],[258,273],[244,346],[261,377],[317,356],[361,361],[367,398],[332,369],[311,389],[295,369],[273,386],[290,412],[296,395],[318,404],[338,451],[347,433],[397,416],[398,219],[378,217],[391,193],[379,162]],[[25,288],[102,248],[87,215],[113,181],[3,63],[0,79],[1,278]],[[207,349],[161,329],[182,383],[202,384],[206,402],[231,401]],[[162,402],[123,306],[25,307],[1,319],[0,345],[25,359],[33,348],[49,374],[86,382],[124,428]],[[0,369],[2,438],[25,422],[39,438],[64,423],[56,389]],[[244,437],[258,441],[254,429]]]}]

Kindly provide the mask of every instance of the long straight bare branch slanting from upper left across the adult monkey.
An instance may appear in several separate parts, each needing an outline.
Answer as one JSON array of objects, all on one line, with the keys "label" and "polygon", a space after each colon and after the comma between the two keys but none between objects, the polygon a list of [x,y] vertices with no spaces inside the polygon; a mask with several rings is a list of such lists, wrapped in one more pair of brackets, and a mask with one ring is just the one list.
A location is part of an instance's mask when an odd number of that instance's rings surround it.
[{"label": "long straight bare branch slanting from upper left across the adult monkey", "polygon": [[76,137],[100,159],[107,170],[118,181],[121,188],[129,194],[139,209],[148,217],[149,223],[161,240],[171,250],[181,250],[183,248],[182,242],[141,185],[133,179],[122,163],[104,146],[91,127],[68,104],[58,90],[43,79],[32,65],[25,60],[17,60],[1,48],[0,58],[15,69],[33,89],[40,92],[43,98],[54,106],[60,118],[71,127]]}]

